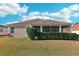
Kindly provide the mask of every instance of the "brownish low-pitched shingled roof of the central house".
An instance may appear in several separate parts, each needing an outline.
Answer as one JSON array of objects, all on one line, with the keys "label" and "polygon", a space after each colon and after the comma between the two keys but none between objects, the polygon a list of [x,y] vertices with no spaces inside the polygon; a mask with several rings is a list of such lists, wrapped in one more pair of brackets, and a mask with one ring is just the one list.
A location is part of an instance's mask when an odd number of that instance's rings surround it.
[{"label": "brownish low-pitched shingled roof of the central house", "polygon": [[9,24],[8,26],[68,26],[70,23],[67,22],[59,22],[56,20],[50,20],[50,19],[33,19],[33,20],[28,20],[24,22],[19,22],[19,23],[14,23],[14,24]]}]

